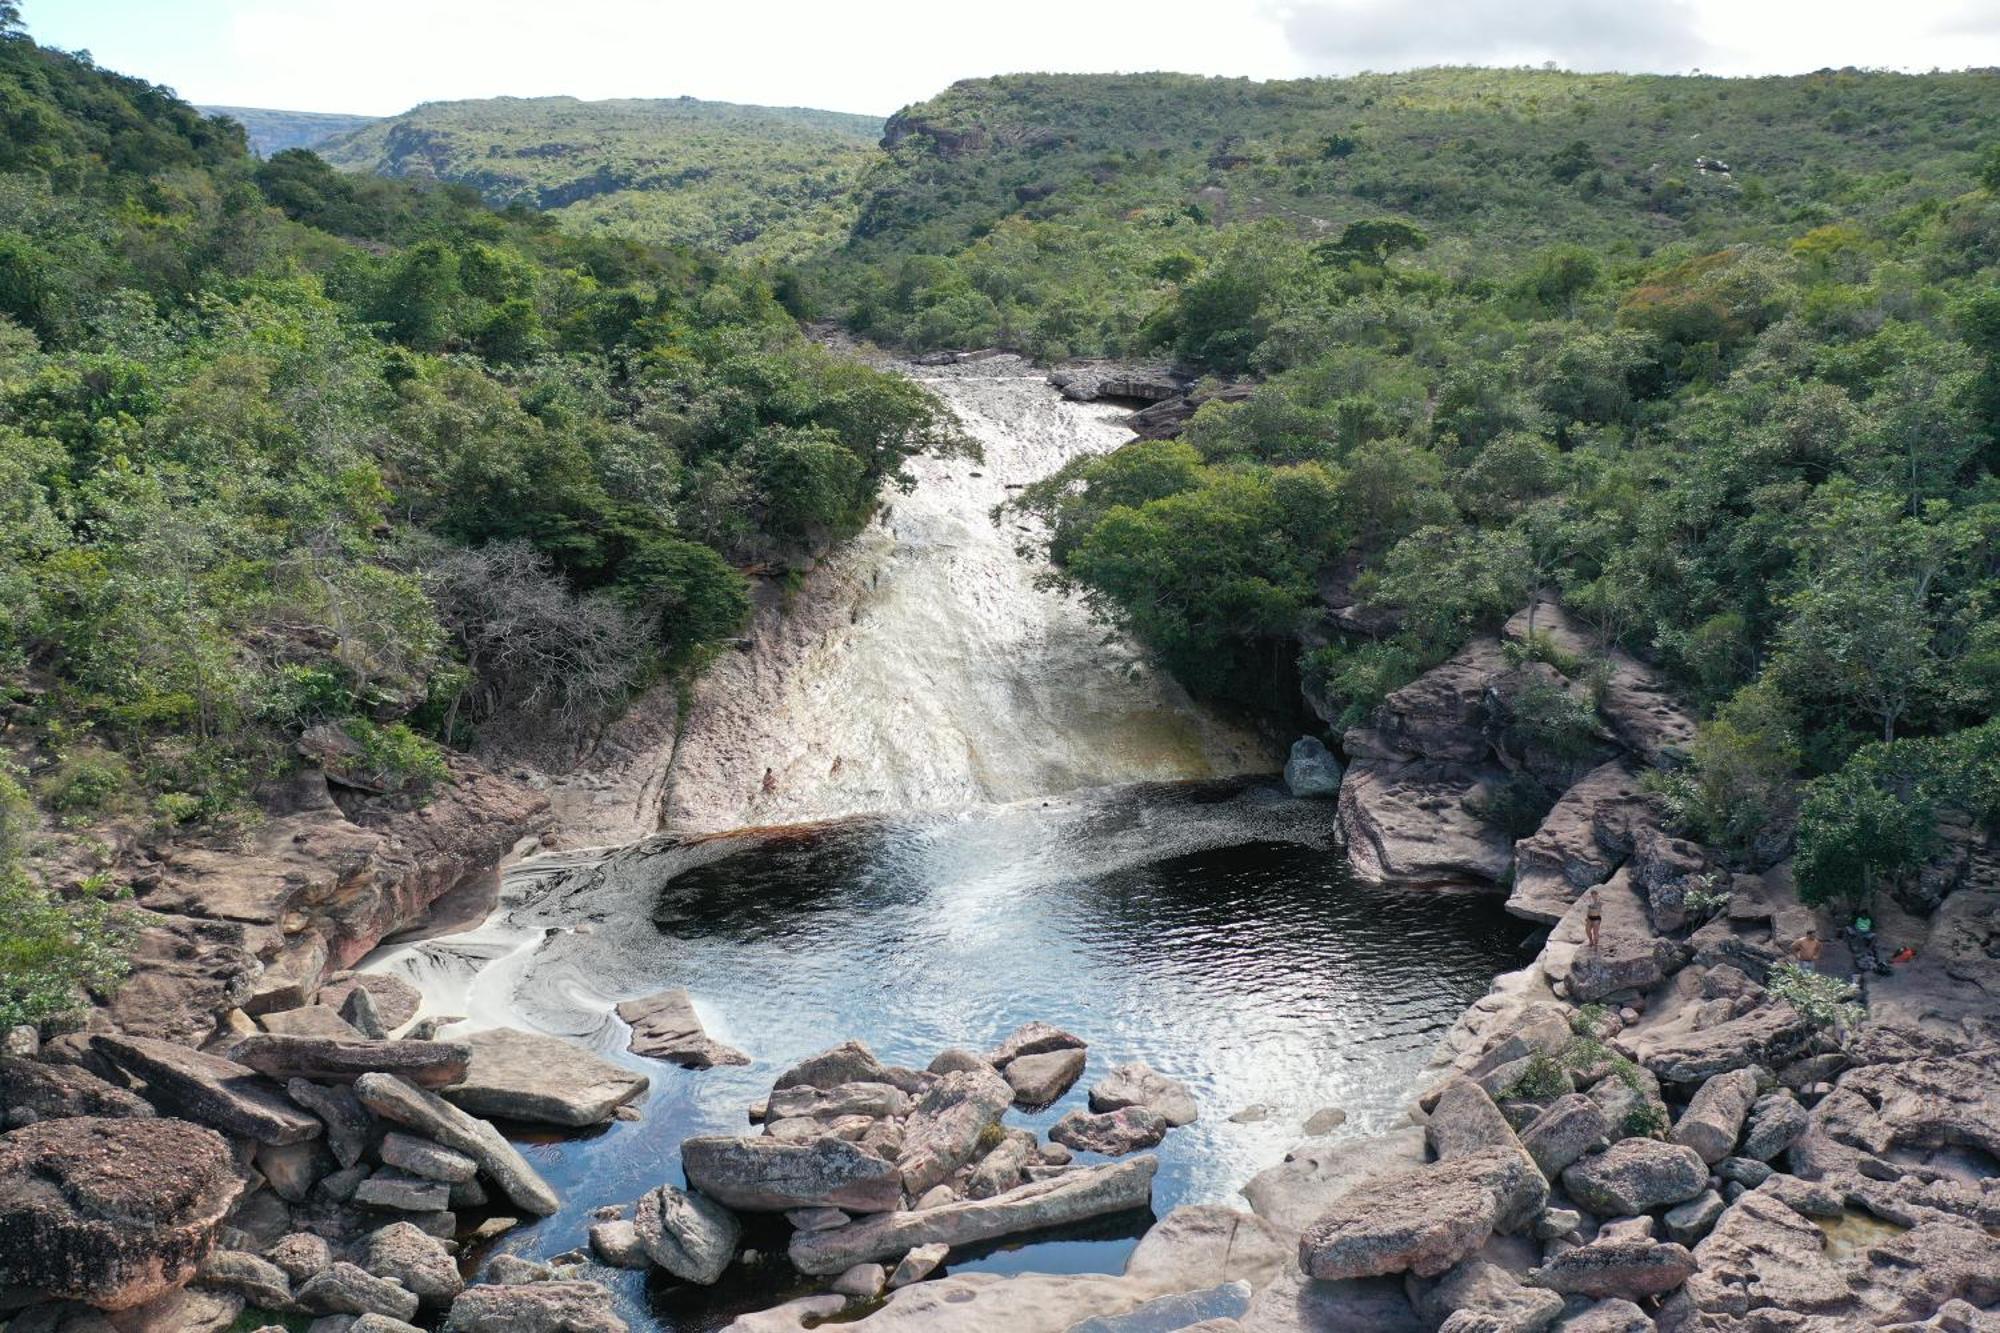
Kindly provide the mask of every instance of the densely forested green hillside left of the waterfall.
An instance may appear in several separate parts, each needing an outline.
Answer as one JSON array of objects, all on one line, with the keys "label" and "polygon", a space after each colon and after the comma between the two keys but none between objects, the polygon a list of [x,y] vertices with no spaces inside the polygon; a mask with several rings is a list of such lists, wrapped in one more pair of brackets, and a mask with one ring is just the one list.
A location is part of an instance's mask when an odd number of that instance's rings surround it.
[{"label": "densely forested green hillside left of the waterfall", "polygon": [[[560,753],[950,438],[690,252],[260,164],[12,24],[0,104],[10,911],[30,797],[164,835],[254,815],[302,737],[412,799],[482,733]],[[6,1015],[48,1001],[14,943]]]}]

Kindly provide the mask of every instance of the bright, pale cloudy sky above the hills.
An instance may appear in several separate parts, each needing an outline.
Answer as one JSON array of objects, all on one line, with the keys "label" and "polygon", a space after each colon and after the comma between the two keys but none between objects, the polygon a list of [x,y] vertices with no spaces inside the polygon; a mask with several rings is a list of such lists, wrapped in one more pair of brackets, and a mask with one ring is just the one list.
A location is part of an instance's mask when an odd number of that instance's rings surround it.
[{"label": "bright, pale cloudy sky above the hills", "polygon": [[22,0],[30,34],[210,106],[696,96],[888,114],[958,78],[1426,64],[2000,66],[2000,0]]}]

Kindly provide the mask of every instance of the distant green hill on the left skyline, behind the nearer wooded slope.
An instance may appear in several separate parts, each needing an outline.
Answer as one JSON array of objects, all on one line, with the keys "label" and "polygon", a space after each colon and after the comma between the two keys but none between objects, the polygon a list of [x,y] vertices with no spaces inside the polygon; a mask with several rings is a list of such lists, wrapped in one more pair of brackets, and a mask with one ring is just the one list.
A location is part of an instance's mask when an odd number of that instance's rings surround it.
[{"label": "distant green hill on the left skyline, behind the nearer wooded slope", "polygon": [[474,186],[578,232],[794,258],[836,244],[882,122],[694,98],[428,102],[320,144],[348,170]]}]

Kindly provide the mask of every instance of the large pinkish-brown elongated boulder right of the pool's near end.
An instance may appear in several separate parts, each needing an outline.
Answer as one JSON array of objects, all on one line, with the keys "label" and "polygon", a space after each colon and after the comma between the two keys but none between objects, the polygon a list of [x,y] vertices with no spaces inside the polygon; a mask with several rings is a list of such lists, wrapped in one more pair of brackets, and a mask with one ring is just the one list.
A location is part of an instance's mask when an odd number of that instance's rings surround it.
[{"label": "large pinkish-brown elongated boulder right of the pool's near end", "polygon": [[1298,1241],[1308,1277],[1436,1277],[1478,1253],[1494,1231],[1540,1217],[1548,1183],[1520,1149],[1378,1175],[1340,1197]]}]

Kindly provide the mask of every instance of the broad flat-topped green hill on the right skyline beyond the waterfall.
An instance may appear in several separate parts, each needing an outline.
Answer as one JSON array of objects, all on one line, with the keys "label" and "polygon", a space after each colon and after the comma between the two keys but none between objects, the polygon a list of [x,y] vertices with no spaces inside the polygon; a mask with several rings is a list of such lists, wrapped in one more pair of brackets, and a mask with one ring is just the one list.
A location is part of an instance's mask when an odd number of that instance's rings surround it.
[{"label": "broad flat-topped green hill on the right skyline beyond the waterfall", "polygon": [[1464,278],[1554,242],[1644,258],[1926,206],[1996,124],[1982,72],[1010,74],[888,122],[830,280],[890,340],[1126,350],[1236,224],[1398,218]]}]

